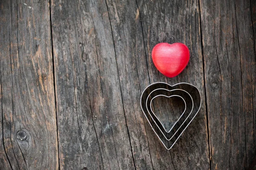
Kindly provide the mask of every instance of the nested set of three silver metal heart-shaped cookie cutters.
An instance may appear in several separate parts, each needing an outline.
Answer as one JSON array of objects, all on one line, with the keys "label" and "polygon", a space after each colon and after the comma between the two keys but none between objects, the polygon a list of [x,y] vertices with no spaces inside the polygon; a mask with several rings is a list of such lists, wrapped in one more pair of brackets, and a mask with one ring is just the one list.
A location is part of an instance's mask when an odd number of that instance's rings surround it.
[{"label": "nested set of three silver metal heart-shaped cookie cutters", "polygon": [[[152,103],[157,97],[179,97],[185,104],[185,109],[169,130],[166,130],[154,113]],[[198,88],[189,83],[169,85],[157,82],[149,85],[140,98],[140,106],[152,130],[167,150],[170,150],[178,138],[186,130],[201,108],[201,94]]]}]

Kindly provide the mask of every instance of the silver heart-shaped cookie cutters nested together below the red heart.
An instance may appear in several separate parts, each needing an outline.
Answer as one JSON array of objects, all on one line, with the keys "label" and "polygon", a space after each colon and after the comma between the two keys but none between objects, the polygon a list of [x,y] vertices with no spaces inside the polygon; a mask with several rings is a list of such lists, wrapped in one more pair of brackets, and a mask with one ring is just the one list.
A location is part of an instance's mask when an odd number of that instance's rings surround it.
[{"label": "silver heart-shaped cookie cutters nested together below the red heart", "polygon": [[[184,118],[179,118],[179,120],[176,122],[175,126],[170,130],[170,132],[167,132],[165,128],[163,127],[163,124],[159,121],[156,115],[154,115],[153,112],[151,112],[150,109],[150,102],[152,98],[154,98],[154,95],[159,95],[161,92],[160,90],[166,91],[169,93],[175,92],[175,91],[185,91],[189,94],[189,96],[192,98],[192,110],[191,112],[188,109],[187,114]],[[156,92],[159,93],[156,93]],[[154,92],[156,94],[154,94]],[[166,95],[166,94],[163,94]],[[170,96],[170,94],[167,94],[166,96]],[[189,97],[184,98],[185,101],[188,100]],[[191,100],[191,99],[190,99]],[[141,108],[143,110],[143,113],[145,117],[147,118],[152,130],[157,135],[157,137],[160,139],[160,141],[163,143],[164,147],[166,147],[167,150],[170,150],[173,145],[176,143],[178,138],[182,135],[182,133],[186,130],[186,128],[189,126],[189,124],[192,122],[192,120],[195,118],[195,116],[198,114],[198,111],[201,107],[201,94],[198,90],[198,88],[192,84],[188,83],[179,83],[175,84],[173,86],[163,83],[163,82],[157,82],[154,84],[149,85],[145,90],[143,91],[141,95],[140,100]],[[191,105],[191,104],[190,104]],[[189,106],[189,104],[186,103],[186,106]],[[189,113],[190,112],[190,113]],[[180,121],[180,122],[179,122]],[[168,135],[171,135],[171,138],[169,138]],[[171,140],[172,139],[172,140]],[[170,141],[171,140],[171,141]],[[168,147],[167,147],[168,146]]]}]

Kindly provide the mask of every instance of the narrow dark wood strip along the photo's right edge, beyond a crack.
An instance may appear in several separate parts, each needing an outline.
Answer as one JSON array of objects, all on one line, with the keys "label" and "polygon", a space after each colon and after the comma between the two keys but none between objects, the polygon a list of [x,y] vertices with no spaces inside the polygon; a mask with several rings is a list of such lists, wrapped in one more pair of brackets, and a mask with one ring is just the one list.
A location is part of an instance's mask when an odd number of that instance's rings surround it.
[{"label": "narrow dark wood strip along the photo's right edge, beyond a crack", "polygon": [[[246,164],[248,167],[256,156],[256,144],[254,143],[254,116],[253,95],[255,99],[256,55],[253,22],[250,0],[235,1],[236,24],[241,58],[241,77],[245,118],[245,147]],[[254,84],[253,84],[254,82]],[[254,100],[255,102],[255,100]],[[255,104],[254,104],[255,107]],[[253,149],[254,148],[254,149]]]}]

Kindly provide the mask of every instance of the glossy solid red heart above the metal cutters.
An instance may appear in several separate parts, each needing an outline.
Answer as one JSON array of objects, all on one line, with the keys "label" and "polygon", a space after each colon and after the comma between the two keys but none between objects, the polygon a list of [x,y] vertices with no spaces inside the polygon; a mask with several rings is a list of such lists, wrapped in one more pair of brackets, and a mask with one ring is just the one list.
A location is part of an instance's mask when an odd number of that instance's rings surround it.
[{"label": "glossy solid red heart above the metal cutters", "polygon": [[183,43],[158,43],[152,50],[152,59],[158,71],[172,78],[189,63],[189,48]]}]

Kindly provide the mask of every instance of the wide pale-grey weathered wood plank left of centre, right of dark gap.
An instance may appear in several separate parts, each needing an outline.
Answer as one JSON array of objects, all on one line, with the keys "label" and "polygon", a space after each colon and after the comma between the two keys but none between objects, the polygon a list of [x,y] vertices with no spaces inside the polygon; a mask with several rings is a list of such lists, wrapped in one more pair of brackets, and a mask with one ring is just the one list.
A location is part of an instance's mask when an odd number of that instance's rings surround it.
[{"label": "wide pale-grey weathered wood plank left of centre, right of dark gap", "polygon": [[106,2],[52,1],[52,31],[61,169],[134,169]]}]

